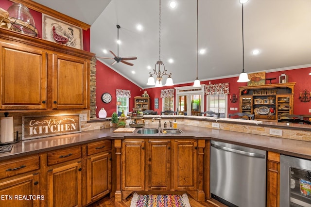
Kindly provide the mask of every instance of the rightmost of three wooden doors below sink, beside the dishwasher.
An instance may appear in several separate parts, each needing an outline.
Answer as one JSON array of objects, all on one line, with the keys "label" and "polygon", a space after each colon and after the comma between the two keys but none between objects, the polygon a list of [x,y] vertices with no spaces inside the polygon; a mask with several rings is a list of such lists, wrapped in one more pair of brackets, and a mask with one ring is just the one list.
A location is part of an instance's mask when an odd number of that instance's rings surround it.
[{"label": "rightmost of three wooden doors below sink, beside the dishwasher", "polygon": [[174,190],[197,189],[197,141],[174,142]]}]

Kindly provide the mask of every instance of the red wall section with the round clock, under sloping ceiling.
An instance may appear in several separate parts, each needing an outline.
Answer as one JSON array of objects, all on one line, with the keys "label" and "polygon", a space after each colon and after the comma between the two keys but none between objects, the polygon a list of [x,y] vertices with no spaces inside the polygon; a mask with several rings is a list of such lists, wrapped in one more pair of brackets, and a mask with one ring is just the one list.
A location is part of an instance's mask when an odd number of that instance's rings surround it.
[{"label": "red wall section with the round clock, under sloping ceiling", "polygon": [[[130,90],[130,111],[134,107],[134,97],[141,96],[143,94],[141,88],[132,83],[130,80],[125,79],[119,73],[112,70],[100,61],[96,62],[96,116],[98,117],[98,111],[102,107],[107,111],[107,116],[111,116],[116,111],[116,89]],[[110,103],[104,103],[102,101],[102,95],[109,93],[112,96]]]}]

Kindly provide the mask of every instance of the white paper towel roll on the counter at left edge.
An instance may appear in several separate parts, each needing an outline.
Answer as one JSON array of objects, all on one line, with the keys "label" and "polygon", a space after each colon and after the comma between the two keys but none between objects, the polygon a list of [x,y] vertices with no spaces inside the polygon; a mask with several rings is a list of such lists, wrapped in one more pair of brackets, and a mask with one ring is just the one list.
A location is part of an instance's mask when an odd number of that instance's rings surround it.
[{"label": "white paper towel roll on the counter at left edge", "polygon": [[11,143],[14,141],[13,116],[1,117],[1,143]]}]

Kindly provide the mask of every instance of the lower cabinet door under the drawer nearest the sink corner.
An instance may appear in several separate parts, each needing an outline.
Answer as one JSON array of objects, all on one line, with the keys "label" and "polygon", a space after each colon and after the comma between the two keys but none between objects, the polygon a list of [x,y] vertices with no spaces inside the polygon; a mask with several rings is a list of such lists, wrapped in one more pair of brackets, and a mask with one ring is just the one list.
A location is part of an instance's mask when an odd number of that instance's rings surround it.
[{"label": "lower cabinet door under the drawer nearest the sink corner", "polygon": [[111,153],[87,158],[87,203],[111,191]]}]

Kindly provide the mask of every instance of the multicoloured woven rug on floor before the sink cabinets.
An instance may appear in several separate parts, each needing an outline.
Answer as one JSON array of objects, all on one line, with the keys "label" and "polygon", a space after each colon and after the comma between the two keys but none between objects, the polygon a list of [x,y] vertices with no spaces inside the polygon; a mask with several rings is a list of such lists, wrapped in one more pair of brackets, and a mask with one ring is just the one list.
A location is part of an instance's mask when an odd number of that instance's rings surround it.
[{"label": "multicoloured woven rug on floor before the sink cabinets", "polygon": [[188,195],[133,194],[131,207],[190,207]]}]

